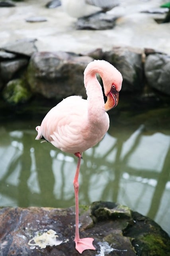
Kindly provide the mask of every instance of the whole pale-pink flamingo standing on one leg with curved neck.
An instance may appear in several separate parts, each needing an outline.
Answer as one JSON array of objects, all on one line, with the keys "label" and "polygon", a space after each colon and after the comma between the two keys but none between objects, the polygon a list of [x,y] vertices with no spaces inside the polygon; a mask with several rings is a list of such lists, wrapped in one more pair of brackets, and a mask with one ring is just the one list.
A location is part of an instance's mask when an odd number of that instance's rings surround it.
[{"label": "whole pale-pink flamingo standing on one leg with curved neck", "polygon": [[[104,84],[102,86],[96,78],[99,74]],[[53,107],[43,119],[41,126],[37,126],[36,140],[44,138],[63,152],[72,153],[78,157],[74,176],[75,195],[75,248],[82,254],[84,250],[96,250],[93,238],[79,236],[79,205],[78,205],[78,175],[82,152],[96,145],[109,128],[109,116],[106,111],[117,106],[119,91],[121,90],[121,73],[105,60],[94,60],[84,70],[84,86],[87,100],[80,96],[69,96]]]}]

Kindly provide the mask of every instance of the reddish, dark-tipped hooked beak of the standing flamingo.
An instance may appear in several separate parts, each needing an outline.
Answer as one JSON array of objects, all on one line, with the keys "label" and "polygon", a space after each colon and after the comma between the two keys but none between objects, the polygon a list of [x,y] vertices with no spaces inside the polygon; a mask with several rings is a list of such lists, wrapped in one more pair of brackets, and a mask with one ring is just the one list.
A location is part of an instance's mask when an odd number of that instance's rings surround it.
[{"label": "reddish, dark-tipped hooked beak of the standing flamingo", "polygon": [[111,108],[115,108],[119,101],[119,92],[115,89],[113,85],[109,94],[107,95],[107,101],[105,103],[105,111],[110,110]]}]

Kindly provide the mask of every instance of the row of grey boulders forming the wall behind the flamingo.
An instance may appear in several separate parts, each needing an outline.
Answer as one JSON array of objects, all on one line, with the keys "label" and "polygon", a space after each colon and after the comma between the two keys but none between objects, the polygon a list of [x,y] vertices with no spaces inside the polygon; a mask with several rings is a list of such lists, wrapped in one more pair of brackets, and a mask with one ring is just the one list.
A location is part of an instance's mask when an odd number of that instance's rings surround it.
[{"label": "row of grey boulders forming the wall behind the flamingo", "polygon": [[0,49],[0,96],[8,105],[34,96],[56,101],[86,97],[83,72],[89,62],[104,59],[123,76],[121,93],[170,96],[170,56],[153,49],[113,47],[92,52],[38,52],[35,40],[18,40]]}]

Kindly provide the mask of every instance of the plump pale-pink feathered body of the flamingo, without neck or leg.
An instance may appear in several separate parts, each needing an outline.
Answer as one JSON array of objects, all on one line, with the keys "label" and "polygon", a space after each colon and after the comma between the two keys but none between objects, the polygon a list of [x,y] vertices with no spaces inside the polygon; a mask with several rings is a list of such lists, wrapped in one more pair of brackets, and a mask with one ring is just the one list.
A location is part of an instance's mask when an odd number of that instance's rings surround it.
[{"label": "plump pale-pink feathered body of the flamingo, without neck or leg", "polygon": [[[109,116],[105,110],[95,122],[89,121],[88,101],[80,96],[70,96],[52,108],[37,127],[36,139],[51,142],[64,152],[84,152],[102,140],[109,128]],[[96,116],[97,117],[97,116]]]}]

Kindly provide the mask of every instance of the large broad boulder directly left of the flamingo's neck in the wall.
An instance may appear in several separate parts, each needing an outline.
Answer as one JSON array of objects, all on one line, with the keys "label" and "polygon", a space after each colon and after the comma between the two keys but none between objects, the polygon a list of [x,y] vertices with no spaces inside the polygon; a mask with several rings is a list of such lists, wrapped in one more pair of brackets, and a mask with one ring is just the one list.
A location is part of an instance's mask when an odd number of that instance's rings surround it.
[{"label": "large broad boulder directly left of the flamingo's neck in the wall", "polygon": [[31,56],[27,77],[32,92],[61,100],[70,95],[86,96],[84,69],[89,56],[66,52],[37,52]]}]

